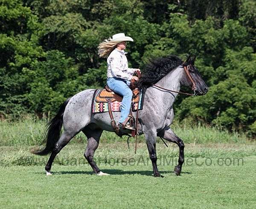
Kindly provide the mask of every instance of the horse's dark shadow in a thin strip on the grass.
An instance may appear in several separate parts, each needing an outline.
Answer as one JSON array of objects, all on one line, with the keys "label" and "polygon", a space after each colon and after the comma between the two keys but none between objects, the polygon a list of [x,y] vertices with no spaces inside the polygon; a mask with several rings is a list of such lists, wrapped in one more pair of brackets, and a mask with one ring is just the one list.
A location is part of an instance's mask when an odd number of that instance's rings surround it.
[{"label": "horse's dark shadow in a thin strip on the grass", "polygon": [[[153,172],[152,171],[123,171],[120,169],[102,169],[101,170],[104,173],[111,174],[111,175],[134,175],[134,174],[139,174],[143,176],[152,176]],[[92,175],[94,174],[92,171],[56,171],[52,172],[52,174],[87,174],[87,175]],[[174,174],[174,171],[160,171],[160,174]],[[192,174],[191,172],[181,172],[182,174]]]}]

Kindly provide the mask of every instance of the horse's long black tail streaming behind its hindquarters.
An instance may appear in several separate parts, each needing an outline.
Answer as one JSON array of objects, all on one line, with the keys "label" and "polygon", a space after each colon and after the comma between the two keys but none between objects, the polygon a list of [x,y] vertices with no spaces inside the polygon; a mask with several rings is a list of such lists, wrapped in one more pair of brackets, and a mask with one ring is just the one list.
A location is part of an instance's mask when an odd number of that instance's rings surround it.
[{"label": "horse's long black tail streaming behind its hindquarters", "polygon": [[58,142],[58,139],[60,138],[61,127],[63,122],[63,113],[69,100],[70,98],[68,98],[63,104],[61,104],[61,107],[58,110],[57,115],[55,115],[54,118],[52,118],[48,122],[43,135],[43,143],[46,142],[45,148],[41,150],[32,150],[31,152],[33,154],[47,155],[53,150],[55,143]]}]

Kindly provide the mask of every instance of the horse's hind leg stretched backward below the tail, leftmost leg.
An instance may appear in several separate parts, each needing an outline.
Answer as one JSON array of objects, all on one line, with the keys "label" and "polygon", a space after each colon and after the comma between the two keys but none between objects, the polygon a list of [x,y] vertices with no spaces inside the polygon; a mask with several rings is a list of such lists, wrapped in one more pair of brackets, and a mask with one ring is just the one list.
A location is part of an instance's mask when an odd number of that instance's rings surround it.
[{"label": "horse's hind leg stretched backward below the tail, leftmost leg", "polygon": [[46,170],[46,175],[51,175],[50,171],[51,171],[51,167],[52,167],[52,163],[53,160],[55,159],[56,155],[61,151],[62,148],[64,148],[64,146],[66,146],[68,144],[68,142],[70,142],[70,140],[76,135],[76,133],[70,134],[67,131],[64,131],[64,133],[61,135],[60,139],[58,140],[58,142],[55,144],[54,149],[52,150],[52,153],[49,157],[49,160],[45,166],[45,170]]}]

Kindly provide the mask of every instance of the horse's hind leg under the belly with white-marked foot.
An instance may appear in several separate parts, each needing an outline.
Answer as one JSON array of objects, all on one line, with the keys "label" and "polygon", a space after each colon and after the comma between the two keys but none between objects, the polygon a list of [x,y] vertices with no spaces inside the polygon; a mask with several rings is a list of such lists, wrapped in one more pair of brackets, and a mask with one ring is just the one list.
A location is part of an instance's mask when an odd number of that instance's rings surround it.
[{"label": "horse's hind leg under the belly with white-marked foot", "polygon": [[83,133],[87,136],[88,141],[86,150],[84,152],[84,157],[86,158],[90,166],[93,168],[93,171],[99,176],[108,175],[100,171],[95,161],[93,160],[93,155],[95,150],[98,148],[99,139],[102,134],[102,131],[102,129],[91,130],[88,127],[84,128],[83,130]]}]

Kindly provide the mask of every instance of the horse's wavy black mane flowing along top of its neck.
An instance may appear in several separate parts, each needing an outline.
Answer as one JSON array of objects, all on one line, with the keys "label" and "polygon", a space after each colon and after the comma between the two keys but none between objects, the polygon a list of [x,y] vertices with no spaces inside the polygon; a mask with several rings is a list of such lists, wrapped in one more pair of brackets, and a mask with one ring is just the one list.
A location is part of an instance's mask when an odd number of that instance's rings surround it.
[{"label": "horse's wavy black mane flowing along top of its neck", "polygon": [[148,84],[155,84],[170,71],[176,69],[178,66],[186,66],[188,64],[194,64],[195,58],[192,59],[191,56],[187,56],[186,62],[183,62],[176,55],[169,55],[163,58],[151,59],[142,68],[141,78],[137,83],[137,87],[146,88]]}]

